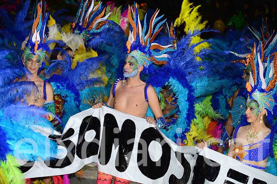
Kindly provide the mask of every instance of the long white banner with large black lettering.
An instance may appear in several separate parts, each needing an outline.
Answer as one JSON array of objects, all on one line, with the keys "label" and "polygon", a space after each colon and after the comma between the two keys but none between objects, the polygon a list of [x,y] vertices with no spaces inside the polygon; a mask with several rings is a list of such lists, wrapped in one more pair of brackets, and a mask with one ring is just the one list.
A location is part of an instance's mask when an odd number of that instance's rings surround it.
[{"label": "long white banner with large black lettering", "polygon": [[18,160],[25,178],[70,174],[98,162],[99,171],[145,184],[277,181],[216,151],[177,146],[144,118],[107,107],[70,117],[62,134],[52,135],[45,128],[40,132],[54,140],[60,152],[45,162]]}]

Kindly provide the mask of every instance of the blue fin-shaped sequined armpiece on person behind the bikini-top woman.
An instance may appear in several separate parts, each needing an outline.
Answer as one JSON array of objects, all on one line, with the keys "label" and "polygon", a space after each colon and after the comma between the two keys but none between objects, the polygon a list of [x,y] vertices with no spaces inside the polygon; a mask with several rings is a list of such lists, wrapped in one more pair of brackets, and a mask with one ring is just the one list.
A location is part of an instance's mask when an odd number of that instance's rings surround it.
[{"label": "blue fin-shaped sequined armpiece on person behind the bikini-top woman", "polygon": [[237,96],[234,99],[234,106],[229,112],[232,115],[232,124],[231,126],[237,127],[241,123],[241,117],[245,113],[246,100],[242,96]]}]

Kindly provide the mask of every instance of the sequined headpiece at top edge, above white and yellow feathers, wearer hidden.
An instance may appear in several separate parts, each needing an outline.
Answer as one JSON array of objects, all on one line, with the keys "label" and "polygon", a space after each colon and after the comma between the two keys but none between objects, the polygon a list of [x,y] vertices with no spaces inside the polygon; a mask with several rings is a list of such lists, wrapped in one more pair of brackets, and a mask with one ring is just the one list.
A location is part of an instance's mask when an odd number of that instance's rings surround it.
[{"label": "sequined headpiece at top edge, above white and yellow feathers, wearer hidden", "polygon": [[98,33],[107,26],[105,20],[110,15],[108,13],[105,17],[102,17],[106,7],[102,6],[101,1],[98,2],[97,6],[93,6],[94,0],[86,0],[85,2],[82,0],[76,21],[71,25],[72,32],[82,36],[85,42],[92,36],[92,33]]}]

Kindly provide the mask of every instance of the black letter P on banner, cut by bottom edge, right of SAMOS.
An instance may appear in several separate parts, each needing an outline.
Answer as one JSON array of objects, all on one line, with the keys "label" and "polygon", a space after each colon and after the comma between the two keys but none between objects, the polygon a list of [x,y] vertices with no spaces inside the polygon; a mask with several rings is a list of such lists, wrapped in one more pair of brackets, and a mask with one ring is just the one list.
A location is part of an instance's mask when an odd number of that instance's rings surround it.
[{"label": "black letter P on banner, cut by bottom edge, right of SAMOS", "polygon": [[[209,161],[209,164],[207,164],[208,161]],[[220,170],[219,163],[211,159],[207,159],[202,155],[198,155],[196,159],[196,164],[193,168],[194,174],[192,178],[192,184],[204,184],[205,178],[210,182],[214,182],[219,175],[219,170]]]}]

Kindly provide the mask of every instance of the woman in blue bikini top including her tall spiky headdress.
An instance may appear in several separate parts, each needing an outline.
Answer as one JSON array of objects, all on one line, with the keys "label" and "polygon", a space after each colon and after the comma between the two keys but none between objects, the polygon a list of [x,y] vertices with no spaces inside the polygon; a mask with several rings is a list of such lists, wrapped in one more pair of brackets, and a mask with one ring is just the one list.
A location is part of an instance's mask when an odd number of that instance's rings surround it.
[{"label": "woman in blue bikini top including her tall spiky headdress", "polygon": [[[249,62],[251,72],[246,83],[247,100],[241,99],[242,122],[235,128],[228,156],[243,164],[267,171],[276,175],[276,38],[264,50],[263,42],[254,44]],[[266,60],[266,63],[262,61]],[[245,114],[245,115],[243,115]],[[200,148],[207,147],[205,142],[198,144]],[[271,156],[271,157],[270,157]],[[271,162],[271,164],[267,164]],[[270,169],[267,169],[269,166]],[[274,169],[275,167],[275,169]]]}]

